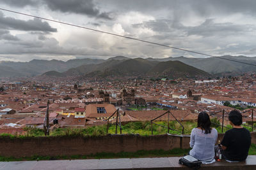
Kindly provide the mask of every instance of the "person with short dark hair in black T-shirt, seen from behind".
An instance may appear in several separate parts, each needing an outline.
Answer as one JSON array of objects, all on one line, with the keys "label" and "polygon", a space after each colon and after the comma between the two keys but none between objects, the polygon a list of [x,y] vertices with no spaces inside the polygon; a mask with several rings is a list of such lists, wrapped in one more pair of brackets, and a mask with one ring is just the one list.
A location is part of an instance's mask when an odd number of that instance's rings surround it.
[{"label": "person with short dark hair in black T-shirt, seen from behind", "polygon": [[243,118],[239,111],[230,111],[228,120],[233,128],[225,132],[221,141],[223,159],[230,161],[245,160],[251,145],[251,134],[241,126]]}]

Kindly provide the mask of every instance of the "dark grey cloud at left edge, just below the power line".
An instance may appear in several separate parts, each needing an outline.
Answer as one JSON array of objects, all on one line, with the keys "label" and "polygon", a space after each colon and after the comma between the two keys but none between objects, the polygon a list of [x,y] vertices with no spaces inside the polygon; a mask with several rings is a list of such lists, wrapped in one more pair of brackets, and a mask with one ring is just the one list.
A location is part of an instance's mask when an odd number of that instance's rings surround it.
[{"label": "dark grey cloud at left edge, just below the power line", "polygon": [[42,22],[38,18],[33,20],[18,20],[12,17],[4,17],[0,12],[0,28],[1,29],[14,29],[21,31],[43,31],[43,32],[57,32],[57,29],[52,28],[48,22]]}]

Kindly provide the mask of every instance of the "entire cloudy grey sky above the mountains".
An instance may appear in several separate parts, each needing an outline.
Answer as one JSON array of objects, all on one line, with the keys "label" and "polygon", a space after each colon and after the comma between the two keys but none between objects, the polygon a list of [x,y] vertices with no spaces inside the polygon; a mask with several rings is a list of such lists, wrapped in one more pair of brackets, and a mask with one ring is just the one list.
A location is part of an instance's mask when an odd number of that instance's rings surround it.
[{"label": "entire cloudy grey sky above the mountains", "polygon": [[[255,0],[0,0],[0,8],[210,55],[256,56]],[[0,10],[0,60],[204,57]]]}]

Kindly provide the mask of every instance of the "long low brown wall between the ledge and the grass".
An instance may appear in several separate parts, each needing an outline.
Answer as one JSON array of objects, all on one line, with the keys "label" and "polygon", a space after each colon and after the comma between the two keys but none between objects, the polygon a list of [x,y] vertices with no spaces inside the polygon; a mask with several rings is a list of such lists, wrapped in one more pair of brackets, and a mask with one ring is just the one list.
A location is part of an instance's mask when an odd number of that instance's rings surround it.
[{"label": "long low brown wall between the ledge and the grass", "polygon": [[[219,134],[223,138],[223,134]],[[252,133],[256,143],[256,133]],[[0,155],[4,157],[89,155],[100,152],[136,152],[138,150],[171,150],[189,148],[189,136],[108,135],[98,137],[0,138]]]}]

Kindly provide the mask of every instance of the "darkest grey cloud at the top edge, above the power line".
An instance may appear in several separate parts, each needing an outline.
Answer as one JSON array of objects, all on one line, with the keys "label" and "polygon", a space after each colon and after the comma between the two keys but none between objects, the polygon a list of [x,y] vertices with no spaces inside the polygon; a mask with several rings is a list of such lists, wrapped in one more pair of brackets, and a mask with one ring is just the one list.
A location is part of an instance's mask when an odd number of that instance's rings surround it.
[{"label": "darkest grey cloud at the top edge, above the power line", "polygon": [[100,12],[92,0],[44,0],[44,3],[53,11],[79,13],[90,17],[111,19],[110,14]]}]

